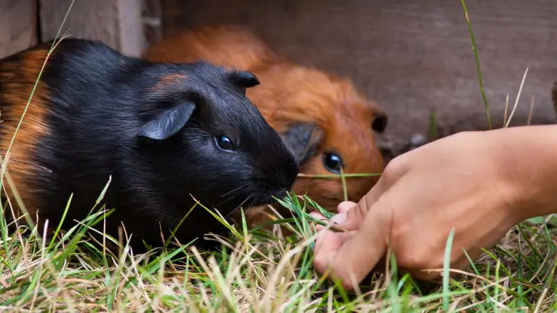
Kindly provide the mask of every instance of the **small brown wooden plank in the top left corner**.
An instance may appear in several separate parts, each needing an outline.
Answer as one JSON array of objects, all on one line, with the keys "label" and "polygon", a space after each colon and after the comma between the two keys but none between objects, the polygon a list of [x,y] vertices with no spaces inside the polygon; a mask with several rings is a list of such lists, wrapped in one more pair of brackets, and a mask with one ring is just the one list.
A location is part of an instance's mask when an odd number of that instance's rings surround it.
[{"label": "small brown wooden plank in the top left corner", "polygon": [[0,0],[0,58],[37,43],[36,0]]}]

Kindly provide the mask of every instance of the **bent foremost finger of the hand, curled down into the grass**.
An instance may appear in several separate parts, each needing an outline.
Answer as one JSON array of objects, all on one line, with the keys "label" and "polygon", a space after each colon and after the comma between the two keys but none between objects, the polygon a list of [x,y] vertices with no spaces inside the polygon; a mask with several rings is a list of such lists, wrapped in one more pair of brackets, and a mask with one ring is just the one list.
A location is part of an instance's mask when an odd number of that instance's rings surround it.
[{"label": "bent foremost finger of the hand, curled down into the grass", "polygon": [[386,226],[389,220],[377,214],[382,209],[372,210],[363,227],[343,243],[339,236],[326,234],[321,240],[320,250],[315,252],[315,268],[343,282],[346,289],[354,287],[375,267],[386,251]]}]

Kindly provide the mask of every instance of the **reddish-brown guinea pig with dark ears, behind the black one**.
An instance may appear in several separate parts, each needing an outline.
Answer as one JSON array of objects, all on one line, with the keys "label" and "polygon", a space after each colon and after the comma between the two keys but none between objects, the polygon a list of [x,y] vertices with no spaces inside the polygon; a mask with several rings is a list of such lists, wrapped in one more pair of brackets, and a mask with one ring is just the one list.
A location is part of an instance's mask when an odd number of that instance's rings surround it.
[{"label": "reddish-brown guinea pig with dark ears, behind the black one", "polygon": [[[301,66],[278,56],[260,38],[239,26],[202,26],[155,42],[144,54],[150,61],[186,63],[203,59],[250,70],[260,85],[246,91],[269,125],[297,157],[300,175],[293,191],[307,195],[324,209],[336,211],[343,201],[340,177],[304,175],[380,173],[384,159],[375,133],[387,115],[354,87],[352,81]],[[357,202],[377,176],[345,177],[347,199]]]}]

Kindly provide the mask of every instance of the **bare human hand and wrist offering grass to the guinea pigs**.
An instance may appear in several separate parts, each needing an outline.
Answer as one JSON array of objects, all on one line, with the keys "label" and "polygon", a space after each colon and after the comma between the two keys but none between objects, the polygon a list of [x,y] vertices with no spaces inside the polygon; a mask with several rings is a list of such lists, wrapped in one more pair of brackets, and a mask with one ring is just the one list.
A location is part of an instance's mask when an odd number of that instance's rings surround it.
[{"label": "bare human hand and wrist offering grass to the guinea pigs", "polygon": [[345,231],[316,225],[315,268],[354,289],[389,247],[399,271],[438,280],[454,229],[450,268],[463,269],[463,249],[473,259],[522,220],[557,212],[556,154],[557,125],[466,131],[402,154],[357,204],[338,205],[331,221]]}]

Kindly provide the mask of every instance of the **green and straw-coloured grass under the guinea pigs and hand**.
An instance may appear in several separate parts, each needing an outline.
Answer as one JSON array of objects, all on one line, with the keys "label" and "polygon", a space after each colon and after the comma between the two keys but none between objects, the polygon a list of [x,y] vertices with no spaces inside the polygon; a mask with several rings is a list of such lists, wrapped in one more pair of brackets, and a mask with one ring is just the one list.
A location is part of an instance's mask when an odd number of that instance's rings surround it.
[{"label": "green and straw-coloured grass under the guinea pigs and hand", "polygon": [[[478,78],[491,128],[489,106],[481,81],[471,22],[462,0],[476,56]],[[69,12],[69,10],[68,10]],[[59,33],[59,32],[58,32]],[[53,46],[54,49],[54,46]],[[524,84],[526,72],[521,83]],[[520,87],[520,88],[521,88]],[[519,92],[520,95],[520,92]],[[512,109],[514,113],[517,103]],[[29,99],[31,99],[32,95]],[[27,103],[29,106],[30,101]],[[531,104],[531,110],[533,103]],[[508,127],[508,97],[503,127]],[[22,119],[24,117],[22,116]],[[430,138],[437,138],[434,115]],[[16,131],[17,134],[17,131]],[[14,134],[14,137],[16,136]],[[11,145],[10,145],[11,147]],[[9,149],[8,149],[9,152]],[[4,156],[8,158],[8,153]],[[350,176],[342,172],[341,179]],[[369,175],[368,175],[369,176]],[[10,184],[6,162],[1,182]],[[327,175],[309,177],[329,179]],[[514,227],[498,245],[465,271],[440,268],[440,284],[414,281],[398,273],[394,257],[387,270],[375,273],[357,292],[325,280],[313,269],[313,229],[308,211],[318,209],[308,197],[290,195],[281,204],[292,217],[279,216],[272,230],[249,228],[245,218],[230,225],[211,212],[215,223],[229,228],[228,237],[213,236],[221,250],[199,251],[194,243],[135,255],[116,239],[95,241],[89,227],[102,223],[110,211],[100,191],[91,215],[70,230],[56,228],[43,240],[32,223],[8,228],[11,203],[0,214],[0,310],[2,312],[548,312],[557,310],[555,216],[527,220]],[[5,188],[5,186],[3,186]],[[1,190],[1,189],[0,189]],[[16,197],[17,198],[17,197]],[[68,200],[70,204],[72,198]],[[16,199],[20,202],[20,199]],[[66,207],[66,210],[68,207]],[[207,209],[198,205],[192,209]],[[26,216],[29,218],[29,216]],[[187,224],[187,218],[182,221]],[[286,236],[282,227],[291,234]],[[452,244],[447,239],[447,250]],[[121,239],[120,239],[121,242]],[[107,243],[116,244],[109,249]],[[446,254],[448,259],[448,254]],[[446,262],[448,264],[448,262]],[[450,278],[447,273],[457,273]]]}]

